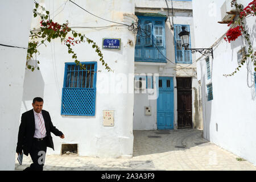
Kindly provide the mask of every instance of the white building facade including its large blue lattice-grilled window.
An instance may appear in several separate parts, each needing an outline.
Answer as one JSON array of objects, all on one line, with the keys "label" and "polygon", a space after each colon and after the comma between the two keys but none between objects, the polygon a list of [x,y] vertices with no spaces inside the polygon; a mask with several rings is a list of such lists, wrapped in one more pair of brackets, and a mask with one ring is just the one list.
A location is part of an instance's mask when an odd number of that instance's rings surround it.
[{"label": "white building facade including its large blue lattice-grilled window", "polygon": [[[39,49],[40,71],[26,70],[21,113],[32,109],[34,97],[44,99],[43,109],[49,111],[53,125],[65,135],[63,140],[53,136],[55,151],[48,148],[47,154],[60,155],[65,146],[77,146],[79,156],[131,157],[135,34],[122,24],[136,22],[134,1],[75,3],[100,18],[69,1],[39,1],[53,22],[62,24],[68,20],[69,27],[96,42],[114,73],[106,71],[92,44],[73,47],[77,59],[89,71],[82,72],[66,46],[60,40],[52,40]],[[39,21],[33,19],[31,28],[38,28]],[[118,39],[119,49],[102,49],[104,39]]]}]

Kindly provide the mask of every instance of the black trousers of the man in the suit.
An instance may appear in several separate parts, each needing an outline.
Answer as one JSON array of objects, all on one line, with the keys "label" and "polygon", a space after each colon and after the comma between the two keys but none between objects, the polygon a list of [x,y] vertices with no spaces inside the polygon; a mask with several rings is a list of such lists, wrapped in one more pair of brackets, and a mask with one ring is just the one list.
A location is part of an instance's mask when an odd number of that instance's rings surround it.
[{"label": "black trousers of the man in the suit", "polygon": [[33,139],[32,147],[29,152],[33,163],[24,171],[43,171],[44,161],[46,159],[46,138],[43,140]]}]

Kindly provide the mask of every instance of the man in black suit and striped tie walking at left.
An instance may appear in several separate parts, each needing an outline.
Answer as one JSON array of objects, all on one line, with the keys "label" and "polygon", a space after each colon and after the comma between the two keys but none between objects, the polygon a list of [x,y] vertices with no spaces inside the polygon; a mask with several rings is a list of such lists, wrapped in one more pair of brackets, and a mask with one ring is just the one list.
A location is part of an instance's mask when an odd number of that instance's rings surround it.
[{"label": "man in black suit and striped tie walking at left", "polygon": [[22,114],[16,152],[21,154],[23,150],[25,155],[31,156],[33,163],[24,170],[43,171],[46,148],[54,150],[51,132],[62,139],[64,134],[52,125],[48,111],[42,110],[42,98],[34,98],[32,106],[33,109]]}]

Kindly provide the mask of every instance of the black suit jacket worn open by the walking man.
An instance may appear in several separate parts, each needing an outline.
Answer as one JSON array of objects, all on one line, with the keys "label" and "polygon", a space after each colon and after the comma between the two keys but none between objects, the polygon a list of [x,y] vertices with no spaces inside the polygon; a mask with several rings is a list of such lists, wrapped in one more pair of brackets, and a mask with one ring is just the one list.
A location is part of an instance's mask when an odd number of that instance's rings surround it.
[{"label": "black suit jacket worn open by the walking man", "polygon": [[[44,118],[44,125],[46,126],[46,142],[47,147],[51,147],[54,150],[53,141],[51,137],[51,132],[56,136],[61,136],[63,133],[56,129],[52,125],[51,117],[48,111],[42,110],[42,115]],[[32,146],[32,139],[35,134],[35,117],[33,109],[22,114],[21,123],[19,126],[18,143],[16,147],[16,152],[21,153],[22,150],[25,155],[28,155]]]}]

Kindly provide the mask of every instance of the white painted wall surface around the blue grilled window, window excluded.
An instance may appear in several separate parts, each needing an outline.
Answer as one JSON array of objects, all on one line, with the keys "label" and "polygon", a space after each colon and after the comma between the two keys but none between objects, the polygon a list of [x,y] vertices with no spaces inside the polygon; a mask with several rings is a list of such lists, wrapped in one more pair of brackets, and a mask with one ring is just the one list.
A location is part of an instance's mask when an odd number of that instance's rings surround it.
[{"label": "white painted wall surface around the blue grilled window, window excluded", "polygon": [[[59,23],[69,21],[69,27],[99,27],[109,26],[114,23],[96,18],[71,2],[41,1],[45,2],[46,9],[50,11],[53,20]],[[135,22],[134,1],[109,0],[101,1],[76,1],[76,3],[97,16],[131,24]],[[117,25],[117,24],[115,24]],[[34,19],[32,27],[38,27],[39,21]],[[73,62],[71,55],[59,40],[47,43],[47,47],[40,48],[40,71],[26,71],[23,95],[22,113],[30,110],[32,98],[40,96],[44,98],[44,108],[51,114],[53,125],[62,131],[65,139],[53,137],[55,151],[47,149],[47,154],[59,155],[62,143],[77,143],[80,156],[99,157],[124,157],[133,154],[133,105],[134,93],[128,88],[129,74],[134,73],[134,44],[135,35],[127,29],[127,26],[113,26],[106,28],[74,28],[93,39],[102,48],[102,38],[121,38],[121,50],[101,50],[106,63],[114,69],[114,73],[105,71],[105,67],[98,61],[92,46],[78,44],[73,48],[80,61],[97,61],[97,93],[96,112],[93,117],[61,115],[61,94],[64,81],[64,63]],[[34,85],[35,75],[38,83]],[[132,80],[133,81],[133,80]],[[122,89],[125,89],[123,92]],[[103,110],[114,110],[114,126],[103,126]]]}]

